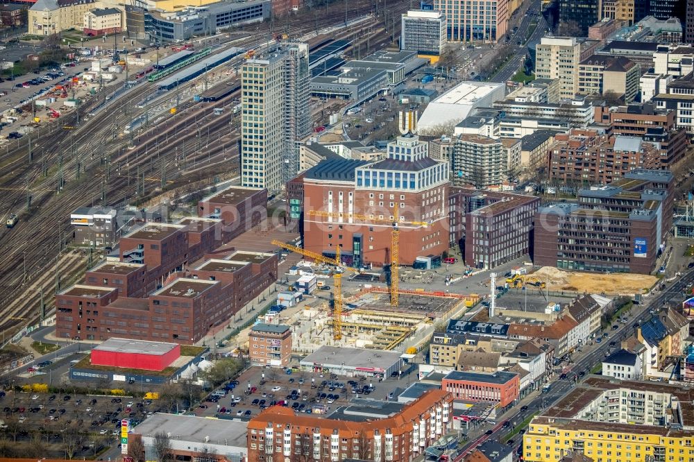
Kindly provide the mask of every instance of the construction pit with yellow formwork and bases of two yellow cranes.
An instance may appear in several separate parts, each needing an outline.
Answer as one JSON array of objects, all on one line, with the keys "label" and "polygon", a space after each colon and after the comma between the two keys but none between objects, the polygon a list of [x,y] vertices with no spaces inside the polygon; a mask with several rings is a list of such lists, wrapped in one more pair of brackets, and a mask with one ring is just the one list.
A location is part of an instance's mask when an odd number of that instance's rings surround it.
[{"label": "construction pit with yellow formwork and bases of two yellow cranes", "polygon": [[[323,280],[316,282],[318,288],[331,291],[300,289],[306,297],[282,319],[293,327],[294,353],[311,353],[323,345],[416,352],[434,332],[434,325],[460,316],[480,301],[475,294],[403,290],[397,283],[364,284],[353,293],[344,293],[342,276],[358,270],[342,264],[339,252],[333,259],[287,243],[273,244],[313,259],[315,264],[304,266],[301,272],[320,275]],[[391,281],[397,280],[397,274],[396,264],[391,265]],[[332,287],[324,281],[330,277]],[[314,279],[317,277],[307,277]]]}]

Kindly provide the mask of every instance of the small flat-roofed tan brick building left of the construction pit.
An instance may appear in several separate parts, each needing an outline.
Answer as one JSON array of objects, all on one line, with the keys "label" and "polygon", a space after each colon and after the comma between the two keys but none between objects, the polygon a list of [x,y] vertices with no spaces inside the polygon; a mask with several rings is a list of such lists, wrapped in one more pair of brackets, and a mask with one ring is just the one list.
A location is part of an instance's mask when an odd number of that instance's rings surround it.
[{"label": "small flat-roofed tan brick building left of the construction pit", "polygon": [[254,364],[289,365],[291,329],[288,325],[256,324],[248,335],[248,358]]}]

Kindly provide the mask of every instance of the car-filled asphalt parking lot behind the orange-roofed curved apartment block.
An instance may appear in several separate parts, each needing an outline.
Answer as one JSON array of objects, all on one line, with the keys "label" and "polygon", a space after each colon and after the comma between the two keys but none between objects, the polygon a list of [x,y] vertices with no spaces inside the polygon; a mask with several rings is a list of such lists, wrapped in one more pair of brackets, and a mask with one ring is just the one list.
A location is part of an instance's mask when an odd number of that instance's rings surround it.
[{"label": "car-filled asphalt parking lot behind the orange-roofed curved apartment block", "polygon": [[[408,372],[405,373],[405,372]],[[405,367],[401,377],[389,377],[379,382],[366,377],[345,377],[330,374],[296,371],[288,375],[281,369],[252,367],[244,371],[234,388],[217,389],[205,398],[201,407],[194,409],[196,416],[241,418],[248,420],[262,409],[280,405],[296,413],[330,414],[346,406],[353,398],[388,400],[397,395],[396,389],[405,389],[416,381],[416,373]],[[396,393],[393,393],[393,392]],[[393,393],[393,394],[391,394]]]}]

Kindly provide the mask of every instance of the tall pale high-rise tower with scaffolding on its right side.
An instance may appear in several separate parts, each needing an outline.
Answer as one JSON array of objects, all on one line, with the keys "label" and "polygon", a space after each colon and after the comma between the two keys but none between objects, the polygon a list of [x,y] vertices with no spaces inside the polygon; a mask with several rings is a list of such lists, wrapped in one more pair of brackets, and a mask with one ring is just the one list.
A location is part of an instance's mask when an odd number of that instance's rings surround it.
[{"label": "tall pale high-rise tower with scaffolding on its right side", "polygon": [[311,132],[308,45],[282,44],[241,68],[241,183],[279,191],[299,171]]}]

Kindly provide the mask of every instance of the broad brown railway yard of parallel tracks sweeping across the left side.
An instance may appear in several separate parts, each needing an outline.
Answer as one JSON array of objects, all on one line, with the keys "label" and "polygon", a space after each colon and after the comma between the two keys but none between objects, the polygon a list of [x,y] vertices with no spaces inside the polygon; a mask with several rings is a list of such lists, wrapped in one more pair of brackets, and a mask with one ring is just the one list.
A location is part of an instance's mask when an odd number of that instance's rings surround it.
[{"label": "broad brown railway yard of parallel tracks sweeping across the left side", "polygon": [[[369,1],[356,4],[362,3],[365,8],[371,5]],[[408,5],[393,3],[393,12],[404,12]],[[328,12],[314,24],[292,22],[289,31],[293,36],[305,35],[316,26],[324,28],[343,17],[344,10]],[[259,28],[246,43],[257,43],[265,34]],[[234,66],[230,63],[221,69]],[[66,250],[71,240],[69,213],[76,207],[122,205],[134,197],[146,198],[161,187],[162,170],[165,182],[173,185],[239,170],[238,135],[230,116],[238,94],[214,103],[214,107],[229,108],[218,116],[213,114],[213,105],[184,102],[176,115],[133,136],[135,147],[128,148],[130,137],[122,130],[144,114],[146,108],[135,108],[134,103],[155,91],[155,85],[139,83],[128,94],[126,104],[111,105],[113,109],[88,117],[92,108],[103,103],[99,100],[103,96],[93,96],[79,109],[79,125],[76,112],[72,112],[40,128],[31,135],[33,162],[28,162],[28,137],[8,144],[4,150],[0,148],[0,210],[16,211],[31,195],[31,207],[17,226],[0,230],[6,255],[0,262],[0,297],[12,300],[0,309],[4,319],[0,331],[6,337],[39,318],[37,288],[44,288],[44,302],[50,304],[58,277],[84,270],[84,259]],[[65,184],[61,187],[62,182]],[[105,201],[101,200],[102,191]]]}]

